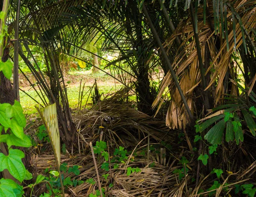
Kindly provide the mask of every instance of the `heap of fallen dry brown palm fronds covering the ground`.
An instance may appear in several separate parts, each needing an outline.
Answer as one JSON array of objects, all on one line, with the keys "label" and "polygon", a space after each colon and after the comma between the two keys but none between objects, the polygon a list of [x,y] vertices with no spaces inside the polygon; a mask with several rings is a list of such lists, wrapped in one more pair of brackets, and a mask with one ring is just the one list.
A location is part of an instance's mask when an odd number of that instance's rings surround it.
[{"label": "heap of fallen dry brown palm fronds covering the ground", "polygon": [[[73,148],[69,150],[73,154],[61,154],[61,164],[67,163],[68,168],[77,166],[79,174],[68,171],[62,174],[64,179],[81,180],[83,183],[66,186],[65,193],[70,197],[96,194],[99,191],[99,182],[105,191],[105,196],[196,197],[199,193],[202,196],[209,194],[223,196],[233,194],[234,185],[250,183],[255,178],[253,172],[256,165],[254,163],[247,165],[244,162],[241,165],[241,161],[236,159],[236,154],[230,153],[228,159],[233,161],[233,164],[227,168],[228,172],[225,171],[220,179],[216,179],[215,174],[209,174],[210,170],[201,168],[200,180],[195,185],[197,156],[189,150],[185,136],[178,135],[183,132],[169,130],[165,122],[138,112],[129,103],[119,103],[117,95],[115,98],[96,104],[94,110],[84,110],[74,114],[80,151],[75,151]],[[150,136],[149,152],[148,135]],[[177,136],[181,137],[177,139]],[[95,154],[97,165],[95,168],[89,143],[96,145],[96,141],[100,139],[108,142],[105,150],[109,154],[109,159],[115,157],[114,153],[119,147],[122,147],[120,148],[122,151],[127,150],[125,154],[127,159],[122,160],[123,162],[109,162],[109,170],[106,170],[102,168],[102,164],[106,163],[104,156]],[[233,150],[236,151],[239,151],[239,148]],[[32,156],[31,165],[38,174],[44,174],[47,168],[55,168],[53,155],[37,155],[37,149],[32,152],[35,154]],[[128,158],[130,158],[129,162]],[[118,168],[115,168],[116,164]],[[220,166],[221,168],[226,166],[225,162],[223,161]],[[99,173],[99,181],[96,169]],[[134,172],[131,171],[132,169]],[[135,169],[139,170],[136,172]],[[243,170],[239,171],[240,169]],[[234,173],[231,174],[230,171]],[[235,172],[238,171],[239,173],[236,174]],[[204,174],[208,175],[204,176]],[[215,186],[218,187],[214,188]]]}]

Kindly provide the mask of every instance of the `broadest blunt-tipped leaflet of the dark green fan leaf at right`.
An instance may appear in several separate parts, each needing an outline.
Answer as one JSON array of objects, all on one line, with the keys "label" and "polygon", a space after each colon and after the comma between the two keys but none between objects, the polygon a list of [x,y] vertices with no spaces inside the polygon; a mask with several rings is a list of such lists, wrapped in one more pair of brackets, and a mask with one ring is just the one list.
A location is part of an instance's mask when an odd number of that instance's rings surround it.
[{"label": "broadest blunt-tipped leaflet of the dark green fan leaf at right", "polygon": [[223,119],[208,131],[208,133],[204,136],[204,139],[207,139],[207,141],[211,144],[221,144],[224,128],[225,121]]}]

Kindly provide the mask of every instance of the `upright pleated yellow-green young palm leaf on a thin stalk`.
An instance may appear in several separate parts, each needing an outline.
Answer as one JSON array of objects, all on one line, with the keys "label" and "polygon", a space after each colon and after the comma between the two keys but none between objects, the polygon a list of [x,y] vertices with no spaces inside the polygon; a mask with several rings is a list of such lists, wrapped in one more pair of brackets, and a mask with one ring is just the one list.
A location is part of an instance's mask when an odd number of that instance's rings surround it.
[{"label": "upright pleated yellow-green young palm leaf on a thin stalk", "polygon": [[65,196],[64,186],[61,178],[61,141],[60,141],[60,132],[58,129],[58,118],[57,118],[57,109],[56,104],[47,105],[43,107],[41,104],[35,105],[41,119],[44,123],[46,131],[48,133],[50,143],[52,145],[52,151],[55,157],[55,162],[57,166],[57,170],[59,173],[60,183],[61,183],[61,191],[62,196]]}]

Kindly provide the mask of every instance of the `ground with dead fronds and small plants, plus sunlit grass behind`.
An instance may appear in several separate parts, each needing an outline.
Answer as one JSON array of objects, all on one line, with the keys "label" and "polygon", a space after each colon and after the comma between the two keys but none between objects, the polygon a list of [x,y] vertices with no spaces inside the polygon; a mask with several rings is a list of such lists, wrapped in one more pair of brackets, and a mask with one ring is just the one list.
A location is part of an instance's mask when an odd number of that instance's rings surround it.
[{"label": "ground with dead fronds and small plants, plus sunlit grass behind", "polygon": [[[31,73],[26,76],[35,83]],[[100,102],[92,105],[89,90],[95,79],[99,93],[104,96]],[[157,82],[157,78],[153,79]],[[38,100],[35,90],[25,81],[20,75],[21,89]],[[246,153],[246,148],[236,147],[234,154],[229,153],[227,158],[233,164],[227,168],[228,171],[221,169],[226,156],[212,171],[198,161],[197,149],[191,146],[196,146],[196,141],[193,143],[193,139],[187,134],[190,130],[187,133],[171,130],[166,127],[162,117],[151,117],[136,110],[134,99],[129,98],[128,102],[124,98],[130,95],[125,91],[117,91],[122,84],[106,73],[70,71],[65,75],[65,84],[72,109],[78,109],[80,87],[84,86],[86,95],[82,105],[88,99],[85,109],[82,107],[81,110],[72,111],[78,131],[75,142],[61,144],[61,174],[65,197],[98,197],[100,187],[103,197],[198,197],[215,194],[216,197],[230,197],[230,193],[235,193],[232,196],[241,196],[241,192],[256,192],[256,188],[252,189],[253,185],[249,185],[251,188],[244,191],[241,186],[254,183],[250,182],[250,177],[254,181],[253,168],[256,168],[256,162],[252,162],[250,158],[244,160],[242,165],[242,159],[237,159],[238,155],[242,158],[241,152]],[[115,94],[106,97],[108,93]],[[23,92],[20,92],[20,102],[25,114],[29,115],[29,124],[25,129],[32,139],[32,147],[28,151],[29,171],[33,175],[41,174],[45,177],[44,182],[35,185],[33,191],[26,186],[25,193],[29,196],[33,193],[36,197],[50,197],[53,191],[55,197],[60,197],[60,181],[49,173],[56,170],[55,159],[49,136],[43,122],[38,119],[34,107],[36,103]],[[240,149],[243,151],[239,154]],[[210,155],[211,159],[216,155]],[[97,173],[99,176],[96,176]],[[27,184],[33,182],[35,180],[28,181]]]}]

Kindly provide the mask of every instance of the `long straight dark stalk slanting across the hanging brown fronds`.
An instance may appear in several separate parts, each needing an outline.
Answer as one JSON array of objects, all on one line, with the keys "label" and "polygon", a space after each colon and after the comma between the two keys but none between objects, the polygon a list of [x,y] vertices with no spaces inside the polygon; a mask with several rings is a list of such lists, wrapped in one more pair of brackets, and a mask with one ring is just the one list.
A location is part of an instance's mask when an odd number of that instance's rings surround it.
[{"label": "long straight dark stalk slanting across the hanging brown fronds", "polygon": [[147,12],[147,9],[145,8],[144,5],[143,5],[143,12],[144,12],[144,14],[145,14],[145,17],[146,17],[147,20],[148,20],[148,24],[149,24],[149,26],[150,26],[150,28],[151,28],[151,30],[152,30],[152,32],[153,32],[153,35],[155,36],[155,38],[156,38],[156,40],[157,40],[157,43],[158,43],[158,45],[159,45],[159,47],[160,47],[160,49],[161,49],[161,52],[163,53],[163,56],[164,56],[164,58],[165,58],[165,60],[166,60],[166,62],[167,62],[167,64],[168,64],[169,70],[170,70],[171,75],[172,75],[172,79],[173,79],[173,81],[175,82],[175,85],[176,85],[176,87],[177,87],[177,89],[178,89],[178,91],[179,91],[180,97],[181,97],[181,99],[182,99],[182,101],[183,101],[183,104],[185,105],[186,111],[187,111],[187,113],[189,114],[189,118],[190,118],[190,120],[192,121],[194,118],[193,118],[193,116],[192,116],[191,110],[189,109],[189,105],[188,105],[188,103],[187,103],[187,101],[186,101],[186,98],[185,98],[185,96],[184,96],[184,94],[183,94],[181,88],[180,88],[180,84],[179,84],[179,82],[178,82],[178,80],[177,80],[177,77],[176,77],[176,75],[175,75],[175,72],[174,72],[174,70],[173,70],[173,68],[172,68],[172,64],[171,64],[170,61],[169,61],[169,58],[168,58],[168,56],[167,56],[167,54],[166,54],[166,51],[165,51],[165,49],[163,48],[163,45],[162,45],[162,43],[161,43],[161,41],[160,41],[160,38],[159,38],[159,36],[158,36],[158,34],[157,34],[157,31],[155,30],[154,25],[153,25],[153,23],[152,23],[152,21],[151,21],[151,18],[149,17],[148,12]]}]

